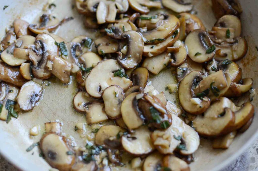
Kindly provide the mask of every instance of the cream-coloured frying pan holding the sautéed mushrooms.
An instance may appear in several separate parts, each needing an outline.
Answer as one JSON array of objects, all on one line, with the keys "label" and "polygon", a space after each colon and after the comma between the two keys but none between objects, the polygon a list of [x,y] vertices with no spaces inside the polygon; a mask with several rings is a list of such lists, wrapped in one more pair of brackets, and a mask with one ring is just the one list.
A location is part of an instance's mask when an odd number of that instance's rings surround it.
[{"label": "cream-coloured frying pan holding the saut\u00e9ed mushrooms", "polygon": [[[24,19],[29,23],[38,21],[39,16],[43,14],[42,8],[47,0],[1,0],[0,1],[0,35],[5,35],[5,27],[12,24],[16,18]],[[54,14],[62,19],[63,17],[73,16],[75,19],[61,26],[58,35],[65,38],[68,42],[73,37],[86,35],[94,38],[95,32],[86,30],[83,27],[83,16],[79,15],[76,9],[72,9],[73,0],[56,0],[57,7]],[[243,69],[243,77],[252,77],[255,88],[257,85],[257,50],[258,46],[258,3],[256,0],[240,0],[243,7],[241,15],[242,36],[248,42],[248,52],[243,60],[238,64]],[[206,28],[211,29],[216,19],[212,13],[210,0],[193,0],[197,16],[203,21]],[[4,5],[9,5],[3,10]],[[158,91],[164,91],[168,83],[173,83],[174,79],[169,70],[163,71],[158,76],[151,76],[152,85]],[[72,98],[76,93],[76,85],[72,82],[69,86],[62,85],[57,80],[50,80],[51,86],[45,89],[43,100],[30,112],[23,113],[18,119],[12,119],[9,124],[0,122],[0,153],[21,170],[49,170],[50,166],[44,159],[39,157],[39,150],[34,148],[30,152],[26,149],[33,143],[38,142],[44,132],[44,123],[59,120],[63,123],[63,132],[67,136],[76,139],[77,145],[85,145],[83,139],[74,131],[74,126],[78,122],[86,122],[85,115],[74,111],[72,107]],[[257,92],[257,91],[256,91]],[[173,98],[170,94],[166,97]],[[174,100],[173,100],[174,101]],[[255,111],[257,111],[257,93],[253,100]],[[253,124],[243,134],[238,134],[228,150],[214,150],[211,142],[207,139],[201,139],[198,151],[195,153],[195,162],[190,167],[192,171],[217,171],[227,166],[243,153],[251,143],[257,138],[258,116],[254,116]],[[35,125],[40,125],[41,134],[30,138],[29,130]],[[127,170],[123,168],[123,170]]]}]

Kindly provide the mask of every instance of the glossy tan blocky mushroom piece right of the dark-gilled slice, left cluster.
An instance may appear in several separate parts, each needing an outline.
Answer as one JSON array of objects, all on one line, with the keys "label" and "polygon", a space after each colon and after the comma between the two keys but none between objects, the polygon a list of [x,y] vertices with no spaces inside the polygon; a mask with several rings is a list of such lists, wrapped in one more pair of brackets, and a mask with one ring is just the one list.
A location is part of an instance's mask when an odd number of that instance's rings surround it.
[{"label": "glossy tan blocky mushroom piece right of the dark-gilled slice, left cluster", "polygon": [[47,57],[48,70],[56,76],[62,83],[69,83],[72,64],[66,60],[58,57],[49,55]]}]

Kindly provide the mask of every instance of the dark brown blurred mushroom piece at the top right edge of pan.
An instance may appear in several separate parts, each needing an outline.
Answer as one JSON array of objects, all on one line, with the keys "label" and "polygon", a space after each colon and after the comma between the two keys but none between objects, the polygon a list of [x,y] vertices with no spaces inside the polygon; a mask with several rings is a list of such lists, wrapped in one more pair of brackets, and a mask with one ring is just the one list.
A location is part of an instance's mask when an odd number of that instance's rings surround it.
[{"label": "dark brown blurred mushroom piece at the top right edge of pan", "polygon": [[232,14],[239,17],[243,12],[238,0],[212,0],[212,10],[217,19],[226,14]]}]

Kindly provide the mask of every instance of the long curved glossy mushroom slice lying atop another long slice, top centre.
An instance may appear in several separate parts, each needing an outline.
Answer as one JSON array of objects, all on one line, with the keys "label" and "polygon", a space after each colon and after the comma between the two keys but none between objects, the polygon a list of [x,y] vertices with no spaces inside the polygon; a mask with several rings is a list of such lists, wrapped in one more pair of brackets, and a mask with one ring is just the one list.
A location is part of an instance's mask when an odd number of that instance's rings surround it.
[{"label": "long curved glossy mushroom slice lying atop another long slice, top centre", "polygon": [[162,23],[155,29],[143,32],[141,29],[138,31],[146,38],[147,43],[156,42],[159,39],[165,39],[171,36],[179,27],[179,20],[174,15],[168,14],[164,16]]}]

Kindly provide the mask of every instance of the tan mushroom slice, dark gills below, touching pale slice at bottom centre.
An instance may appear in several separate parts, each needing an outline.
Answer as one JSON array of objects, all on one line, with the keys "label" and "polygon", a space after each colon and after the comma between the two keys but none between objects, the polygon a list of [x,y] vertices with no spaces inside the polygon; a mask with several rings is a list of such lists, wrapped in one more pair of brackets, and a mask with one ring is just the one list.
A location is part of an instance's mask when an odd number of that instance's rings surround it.
[{"label": "tan mushroom slice, dark gills below, touching pale slice at bottom centre", "polygon": [[115,125],[102,126],[95,135],[96,145],[101,145],[108,149],[120,149],[120,133],[123,135],[125,129]]}]

